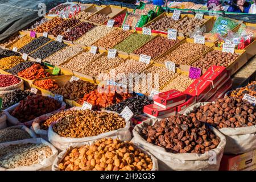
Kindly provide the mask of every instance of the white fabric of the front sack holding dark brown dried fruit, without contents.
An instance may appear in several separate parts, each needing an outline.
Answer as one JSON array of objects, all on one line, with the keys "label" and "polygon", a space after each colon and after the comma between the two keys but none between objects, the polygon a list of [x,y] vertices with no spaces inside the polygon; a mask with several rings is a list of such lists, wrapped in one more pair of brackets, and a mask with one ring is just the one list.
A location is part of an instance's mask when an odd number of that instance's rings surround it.
[{"label": "white fabric of the front sack holding dark brown dried fruit, without contents", "polygon": [[[148,119],[136,125],[133,130],[134,138],[131,141],[139,147],[144,148],[144,150],[147,150],[158,159],[159,170],[218,170],[226,144],[226,138],[220,131],[212,127],[214,134],[220,137],[220,143],[217,148],[205,152],[205,154],[174,154],[167,152],[163,147],[147,142],[141,137],[140,133],[143,127],[146,124],[154,125],[156,121],[157,119]],[[216,158],[214,158],[215,156]]]}]

